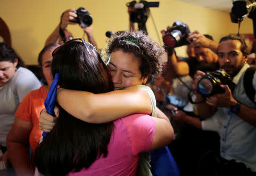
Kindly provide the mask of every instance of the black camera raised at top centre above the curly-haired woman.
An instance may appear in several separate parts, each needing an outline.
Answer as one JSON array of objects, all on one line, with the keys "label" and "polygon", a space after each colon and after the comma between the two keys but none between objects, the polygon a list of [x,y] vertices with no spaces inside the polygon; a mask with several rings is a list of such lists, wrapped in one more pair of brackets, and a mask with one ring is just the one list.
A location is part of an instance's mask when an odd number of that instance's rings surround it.
[{"label": "black camera raised at top centre above the curly-haired woman", "polygon": [[159,7],[159,2],[147,1],[131,1],[126,3],[127,7],[134,7],[134,11],[130,14],[130,22],[133,23],[146,23],[149,16],[149,7]]}]

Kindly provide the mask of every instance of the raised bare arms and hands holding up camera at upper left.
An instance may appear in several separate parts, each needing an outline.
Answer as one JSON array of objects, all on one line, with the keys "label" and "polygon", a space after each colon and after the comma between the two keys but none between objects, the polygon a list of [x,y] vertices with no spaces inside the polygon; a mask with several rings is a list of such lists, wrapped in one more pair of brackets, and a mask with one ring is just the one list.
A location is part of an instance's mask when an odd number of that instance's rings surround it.
[{"label": "raised bare arms and hands holding up camera at upper left", "polygon": [[[77,23],[77,14],[75,9],[68,9],[63,12],[60,18],[60,23],[57,25],[55,30],[51,33],[51,35],[48,36],[46,40],[46,44],[51,44],[51,43],[57,43],[57,44],[63,44],[63,37],[61,36],[61,31],[65,35],[65,40],[70,40],[72,39],[72,34],[66,29],[68,25],[78,25]],[[87,36],[88,42],[91,43],[94,47],[97,48],[96,41],[94,40],[93,36],[93,26],[90,25],[88,27],[82,27],[81,24],[79,24],[81,29],[84,31],[84,33]]]}]

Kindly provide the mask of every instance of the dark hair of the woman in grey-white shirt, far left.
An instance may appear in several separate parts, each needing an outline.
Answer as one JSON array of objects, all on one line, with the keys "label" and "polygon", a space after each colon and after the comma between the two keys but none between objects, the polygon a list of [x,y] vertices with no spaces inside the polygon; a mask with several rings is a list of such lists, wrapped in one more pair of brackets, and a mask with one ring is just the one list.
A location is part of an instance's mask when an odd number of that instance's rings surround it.
[{"label": "dark hair of the woman in grey-white shirt, far left", "polygon": [[0,62],[9,61],[14,63],[16,59],[18,60],[16,68],[20,66],[26,67],[23,60],[16,54],[13,48],[6,43],[0,43]]}]

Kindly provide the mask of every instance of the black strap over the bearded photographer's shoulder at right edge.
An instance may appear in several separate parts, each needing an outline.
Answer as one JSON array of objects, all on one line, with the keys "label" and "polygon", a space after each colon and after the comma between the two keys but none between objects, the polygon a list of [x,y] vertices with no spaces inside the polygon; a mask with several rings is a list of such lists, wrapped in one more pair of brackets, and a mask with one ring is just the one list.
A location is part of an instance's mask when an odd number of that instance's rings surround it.
[{"label": "black strap over the bearded photographer's shoulder at right edge", "polygon": [[245,93],[247,97],[251,100],[251,102],[253,102],[254,104],[256,104],[254,100],[255,90],[253,87],[253,76],[255,71],[256,66],[250,66],[245,71],[245,76],[243,76],[243,87],[245,87]]}]

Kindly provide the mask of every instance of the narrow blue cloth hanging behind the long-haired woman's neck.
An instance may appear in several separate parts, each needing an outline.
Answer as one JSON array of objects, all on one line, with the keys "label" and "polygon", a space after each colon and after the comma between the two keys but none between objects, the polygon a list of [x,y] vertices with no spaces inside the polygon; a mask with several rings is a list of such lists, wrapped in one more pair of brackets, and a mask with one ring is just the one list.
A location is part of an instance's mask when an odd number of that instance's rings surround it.
[{"label": "narrow blue cloth hanging behind the long-haired woman's neck", "polygon": [[[56,73],[54,80],[51,84],[51,87],[49,89],[48,95],[46,97],[46,100],[44,101],[44,106],[46,107],[46,111],[54,115],[54,107],[55,107],[55,99],[56,99],[56,93],[57,93],[57,86],[59,83],[60,74]],[[43,138],[46,137],[47,132],[43,132]]]}]

